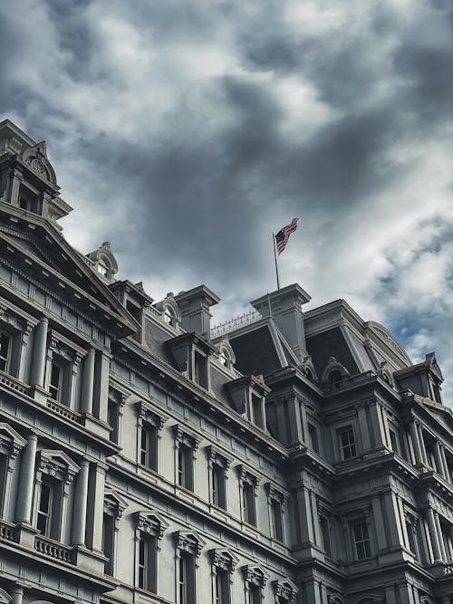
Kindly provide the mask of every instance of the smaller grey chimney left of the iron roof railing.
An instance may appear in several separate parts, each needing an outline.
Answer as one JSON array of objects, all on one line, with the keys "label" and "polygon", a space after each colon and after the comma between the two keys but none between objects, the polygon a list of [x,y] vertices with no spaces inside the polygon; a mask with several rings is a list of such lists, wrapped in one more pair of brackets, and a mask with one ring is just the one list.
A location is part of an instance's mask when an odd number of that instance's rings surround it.
[{"label": "smaller grey chimney left of the iron roof railing", "polygon": [[220,302],[220,298],[206,285],[198,285],[188,292],[179,292],[175,301],[181,312],[181,327],[209,340],[212,316],[209,308]]}]

